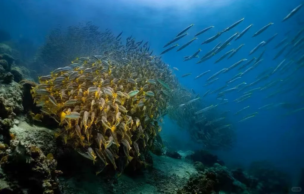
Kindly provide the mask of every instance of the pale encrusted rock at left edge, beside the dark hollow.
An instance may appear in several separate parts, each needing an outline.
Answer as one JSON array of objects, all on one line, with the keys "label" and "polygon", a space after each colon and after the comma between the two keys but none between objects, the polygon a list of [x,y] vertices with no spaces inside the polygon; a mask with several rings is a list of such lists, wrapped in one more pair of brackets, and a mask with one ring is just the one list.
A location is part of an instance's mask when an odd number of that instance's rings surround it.
[{"label": "pale encrusted rock at left edge, beside the dark hollow", "polygon": [[12,82],[10,84],[0,85],[0,117],[13,118],[16,114],[23,111],[22,92],[19,84]]}]

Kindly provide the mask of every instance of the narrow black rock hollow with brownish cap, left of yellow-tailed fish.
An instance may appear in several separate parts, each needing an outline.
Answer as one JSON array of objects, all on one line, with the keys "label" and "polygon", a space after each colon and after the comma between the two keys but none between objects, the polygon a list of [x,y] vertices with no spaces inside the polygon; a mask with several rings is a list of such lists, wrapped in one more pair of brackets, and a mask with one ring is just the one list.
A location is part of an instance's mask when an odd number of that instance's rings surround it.
[{"label": "narrow black rock hollow with brownish cap, left of yellow-tailed fish", "polygon": [[34,105],[34,100],[32,98],[30,90],[37,84],[27,79],[23,79],[19,82],[22,89],[22,106],[25,111],[32,110],[33,112],[38,112],[39,108]]}]

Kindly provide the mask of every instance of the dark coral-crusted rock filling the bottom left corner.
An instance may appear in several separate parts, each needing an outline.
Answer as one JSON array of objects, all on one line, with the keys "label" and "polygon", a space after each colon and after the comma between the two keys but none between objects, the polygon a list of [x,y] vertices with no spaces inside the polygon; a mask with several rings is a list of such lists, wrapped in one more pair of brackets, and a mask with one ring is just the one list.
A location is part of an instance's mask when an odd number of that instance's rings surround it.
[{"label": "dark coral-crusted rock filling the bottom left corner", "polygon": [[1,159],[3,176],[13,193],[60,193],[57,161],[34,145],[12,140]]}]

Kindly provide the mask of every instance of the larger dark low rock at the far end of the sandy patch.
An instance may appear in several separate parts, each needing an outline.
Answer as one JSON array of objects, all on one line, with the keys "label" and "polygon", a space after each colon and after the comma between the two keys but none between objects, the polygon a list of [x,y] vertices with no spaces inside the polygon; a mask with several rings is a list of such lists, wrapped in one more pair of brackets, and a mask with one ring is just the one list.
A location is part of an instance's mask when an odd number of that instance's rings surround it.
[{"label": "larger dark low rock at the far end of the sandy patch", "polygon": [[215,163],[219,163],[224,166],[224,162],[219,160],[216,155],[209,153],[206,150],[198,150],[188,155],[186,158],[192,159],[193,162],[202,162],[205,166],[213,166]]}]

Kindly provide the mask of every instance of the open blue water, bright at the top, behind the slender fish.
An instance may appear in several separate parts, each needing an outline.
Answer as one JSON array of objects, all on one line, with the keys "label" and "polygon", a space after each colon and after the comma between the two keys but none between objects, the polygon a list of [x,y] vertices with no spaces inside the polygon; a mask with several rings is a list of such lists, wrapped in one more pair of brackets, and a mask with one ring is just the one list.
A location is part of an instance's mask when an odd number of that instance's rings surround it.
[{"label": "open blue water, bright at the top, behind the slender fish", "polygon": [[[299,18],[301,20],[301,17],[304,18],[303,8],[287,22],[281,23],[281,20],[300,3],[302,3],[301,0],[2,0],[0,3],[0,26],[10,32],[13,39],[28,38],[33,41],[34,45],[38,46],[43,44],[44,37],[48,32],[58,27],[58,25],[67,27],[77,25],[78,22],[92,21],[94,25],[100,26],[100,29],[110,28],[114,34],[119,34],[123,30],[124,39],[133,34],[136,40],[144,39],[149,41],[151,49],[154,49],[154,52],[159,54],[163,45],[188,25],[195,24],[188,30],[189,35],[178,41],[179,45],[191,40],[203,28],[213,25],[215,26],[214,28],[199,35],[199,39],[185,49],[180,52],[175,52],[175,49],[162,57],[163,61],[171,65],[171,67],[179,69],[175,73],[183,85],[193,88],[197,93],[204,94],[209,89],[215,90],[223,86],[226,80],[238,73],[238,68],[220,75],[218,81],[204,87],[203,85],[209,76],[229,67],[240,59],[247,58],[249,60],[252,57],[258,57],[262,49],[248,56],[250,50],[261,41],[267,40],[275,33],[278,33],[275,39],[266,46],[267,50],[263,56],[264,61],[256,69],[244,75],[242,79],[230,84],[229,87],[244,81],[249,84],[255,80],[255,76],[259,72],[271,66],[275,68],[284,59],[284,55],[272,60],[279,50],[273,49],[273,47],[284,38],[284,34],[288,30],[291,30],[289,37],[293,37],[302,28],[302,26],[297,24],[296,20]],[[235,28],[224,33],[215,41],[201,45],[201,42],[243,17],[245,18],[244,21]],[[274,22],[274,25],[271,25],[261,35],[254,38],[251,37],[269,22]],[[200,64],[195,64],[198,59],[182,62],[183,56],[192,55],[199,48],[202,49],[199,56],[202,56],[219,41],[223,43],[235,32],[241,32],[250,24],[254,25],[242,38],[232,41],[231,45],[212,57],[212,59]],[[226,51],[232,48],[235,49],[242,43],[245,45],[231,59],[223,59],[221,62],[213,64]],[[193,80],[195,76],[207,70],[211,70],[211,72],[202,78]],[[288,71],[291,72],[291,69]],[[181,78],[181,75],[190,72],[192,72],[192,75]],[[303,73],[303,69],[299,69],[293,77],[303,80],[301,77]],[[284,75],[287,74],[288,72]],[[283,78],[284,75],[275,74],[267,81],[257,84],[256,87],[261,87],[271,80]],[[286,84],[284,87],[291,86]],[[301,88],[303,90],[303,84],[293,91],[286,94],[281,93],[266,100],[263,98],[279,88],[273,87],[265,91],[256,91],[250,99],[241,103],[232,102],[241,96],[240,92],[227,94],[225,98],[231,102],[219,106],[218,111],[231,110],[228,117],[230,123],[237,130],[237,144],[229,152],[217,152],[219,157],[227,165],[241,164],[243,166],[247,166],[255,160],[267,159],[296,176],[299,170],[304,167],[303,111],[286,116],[284,114],[290,110],[281,107],[259,111],[257,108],[266,104],[280,102],[296,103],[297,108],[301,108],[303,107],[303,96],[299,96]],[[204,101],[210,105],[219,103],[216,99],[216,94],[207,95]],[[236,111],[248,105],[250,105],[249,109],[246,109],[240,115],[233,115]],[[255,118],[238,123],[243,116],[257,111],[259,114]],[[165,119],[163,125],[163,134],[165,136],[174,136],[174,139],[177,139],[180,145],[191,141],[185,136],[186,132],[181,132],[178,126],[168,118]],[[188,149],[193,148],[189,147]]]}]

